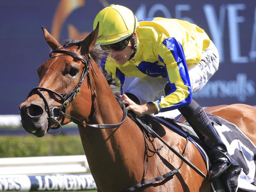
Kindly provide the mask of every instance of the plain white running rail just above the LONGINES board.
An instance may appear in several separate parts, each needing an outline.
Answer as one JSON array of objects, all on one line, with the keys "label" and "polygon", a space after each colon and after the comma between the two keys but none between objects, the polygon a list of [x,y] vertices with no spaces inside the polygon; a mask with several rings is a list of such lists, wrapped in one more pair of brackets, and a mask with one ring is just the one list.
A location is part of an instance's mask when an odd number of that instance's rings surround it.
[{"label": "plain white running rail just above the LONGINES board", "polygon": [[0,158],[0,174],[85,173],[89,170],[85,155]]}]

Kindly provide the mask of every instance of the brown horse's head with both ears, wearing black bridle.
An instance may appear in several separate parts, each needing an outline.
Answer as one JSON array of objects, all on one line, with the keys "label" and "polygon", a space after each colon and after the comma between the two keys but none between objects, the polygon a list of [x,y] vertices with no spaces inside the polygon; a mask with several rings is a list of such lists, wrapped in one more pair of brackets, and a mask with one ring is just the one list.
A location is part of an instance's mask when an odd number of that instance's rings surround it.
[{"label": "brown horse's head with both ears, wearing black bridle", "polygon": [[97,57],[95,41],[98,27],[85,39],[69,40],[63,46],[46,28],[42,29],[52,52],[49,60],[37,69],[38,86],[19,106],[22,126],[37,137],[44,136],[49,129],[57,128],[59,121],[62,125],[71,121],[61,114],[75,114],[78,119],[90,116],[96,92],[89,73],[93,70],[91,74],[97,75],[99,70],[99,67],[92,69],[95,57],[90,56],[91,53]]}]

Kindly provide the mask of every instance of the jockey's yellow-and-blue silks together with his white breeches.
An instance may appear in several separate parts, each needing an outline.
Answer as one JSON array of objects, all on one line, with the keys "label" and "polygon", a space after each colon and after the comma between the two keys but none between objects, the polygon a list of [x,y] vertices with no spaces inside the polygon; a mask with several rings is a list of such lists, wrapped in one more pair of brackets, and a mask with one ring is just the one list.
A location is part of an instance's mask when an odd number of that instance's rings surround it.
[{"label": "jockey's yellow-and-blue silks together with his white breeches", "polygon": [[[185,106],[191,93],[199,91],[218,70],[217,48],[204,30],[187,21],[157,17],[139,25],[135,56],[123,65],[108,56],[102,67],[118,77],[121,86],[125,76],[136,77],[124,92],[136,95],[140,104],[153,101],[159,112]],[[168,83],[170,91],[165,95]]]}]

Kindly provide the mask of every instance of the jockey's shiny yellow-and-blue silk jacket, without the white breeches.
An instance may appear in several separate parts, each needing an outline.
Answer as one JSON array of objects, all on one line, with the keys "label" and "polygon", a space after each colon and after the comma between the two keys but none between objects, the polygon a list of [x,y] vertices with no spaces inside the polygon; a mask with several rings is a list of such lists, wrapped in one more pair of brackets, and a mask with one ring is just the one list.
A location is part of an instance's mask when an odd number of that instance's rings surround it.
[{"label": "jockey's shiny yellow-and-blue silk jacket, without the white breeches", "polygon": [[108,56],[102,60],[103,68],[116,76],[121,86],[125,76],[168,78],[171,91],[153,101],[159,112],[189,104],[192,96],[187,65],[200,62],[210,43],[208,35],[195,24],[178,19],[148,18],[139,24],[134,58],[119,65]]}]

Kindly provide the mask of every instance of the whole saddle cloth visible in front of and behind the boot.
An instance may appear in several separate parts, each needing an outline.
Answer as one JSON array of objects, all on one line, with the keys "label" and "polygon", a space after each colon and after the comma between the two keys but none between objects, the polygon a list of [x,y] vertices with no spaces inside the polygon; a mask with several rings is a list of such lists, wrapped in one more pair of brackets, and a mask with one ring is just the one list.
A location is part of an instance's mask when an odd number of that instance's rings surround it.
[{"label": "whole saddle cloth visible in front of and behind the boot", "polygon": [[[214,192],[237,192],[238,188],[256,192],[256,146],[250,139],[234,125],[221,117],[207,114],[213,121],[213,127],[219,134],[221,140],[227,147],[228,153],[239,164],[239,168],[232,173],[224,173],[216,182],[211,183]],[[189,140],[200,151],[209,170],[209,159],[204,150],[204,144],[200,142],[198,136],[189,123],[181,115],[174,119],[165,117],[155,117],[155,119],[171,130],[186,137],[189,133]],[[223,185],[226,190],[223,189]]]}]

